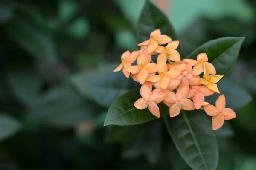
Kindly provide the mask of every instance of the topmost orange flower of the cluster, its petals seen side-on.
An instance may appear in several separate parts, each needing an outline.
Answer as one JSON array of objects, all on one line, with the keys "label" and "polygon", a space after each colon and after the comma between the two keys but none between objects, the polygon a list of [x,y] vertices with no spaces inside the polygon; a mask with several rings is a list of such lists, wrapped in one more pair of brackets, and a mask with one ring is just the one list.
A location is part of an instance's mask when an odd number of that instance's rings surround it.
[{"label": "topmost orange flower of the cluster, its petals seen side-on", "polygon": [[151,32],[149,40],[139,43],[138,46],[148,46],[148,53],[151,54],[157,48],[158,44],[166,44],[171,41],[172,39],[170,37],[161,35],[160,29],[156,29]]}]

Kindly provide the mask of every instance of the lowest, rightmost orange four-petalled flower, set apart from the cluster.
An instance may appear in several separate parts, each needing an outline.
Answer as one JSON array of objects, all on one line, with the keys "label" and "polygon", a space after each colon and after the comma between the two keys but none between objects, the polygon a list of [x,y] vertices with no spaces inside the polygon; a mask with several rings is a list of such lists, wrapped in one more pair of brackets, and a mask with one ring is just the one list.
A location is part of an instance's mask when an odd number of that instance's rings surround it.
[{"label": "lowest, rightmost orange four-petalled flower, set apart from the cluster", "polygon": [[224,95],[220,95],[216,101],[216,107],[207,105],[204,107],[207,115],[212,116],[212,129],[216,130],[223,126],[224,120],[236,118],[233,109],[226,108],[226,99]]}]

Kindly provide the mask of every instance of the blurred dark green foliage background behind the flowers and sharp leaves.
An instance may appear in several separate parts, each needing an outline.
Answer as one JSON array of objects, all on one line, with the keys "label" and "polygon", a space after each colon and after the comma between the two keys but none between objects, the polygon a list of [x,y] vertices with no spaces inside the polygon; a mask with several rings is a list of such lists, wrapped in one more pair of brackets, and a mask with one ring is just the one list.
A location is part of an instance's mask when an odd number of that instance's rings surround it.
[{"label": "blurred dark green foliage background behind the flowers and sharp leaves", "polygon": [[[256,1],[152,1],[168,15],[185,55],[208,40],[245,37],[225,78],[251,101],[216,131],[218,170],[256,170]],[[0,1],[0,170],[190,169],[160,120],[103,127],[115,96],[138,86],[116,91],[113,84],[132,80],[113,69],[122,52],[139,49],[143,3]]]}]

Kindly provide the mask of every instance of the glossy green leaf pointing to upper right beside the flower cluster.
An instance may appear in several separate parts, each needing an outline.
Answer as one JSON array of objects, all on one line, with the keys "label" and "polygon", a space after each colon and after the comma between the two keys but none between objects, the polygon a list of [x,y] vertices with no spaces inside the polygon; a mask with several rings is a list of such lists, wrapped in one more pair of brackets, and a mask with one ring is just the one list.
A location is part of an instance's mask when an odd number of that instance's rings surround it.
[{"label": "glossy green leaf pointing to upper right beside the flower cluster", "polygon": [[223,37],[204,43],[187,58],[195,59],[206,53],[208,62],[215,66],[217,75],[225,75],[236,62],[244,37]]}]

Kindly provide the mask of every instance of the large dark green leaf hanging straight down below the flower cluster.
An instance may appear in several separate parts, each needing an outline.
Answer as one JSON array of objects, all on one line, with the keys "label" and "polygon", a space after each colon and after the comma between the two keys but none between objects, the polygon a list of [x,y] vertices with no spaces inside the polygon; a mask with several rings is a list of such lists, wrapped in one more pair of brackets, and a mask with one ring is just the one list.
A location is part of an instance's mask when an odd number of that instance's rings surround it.
[{"label": "large dark green leaf hanging straight down below the flower cluster", "polygon": [[208,116],[201,110],[164,117],[167,130],[183,159],[193,170],[215,170],[218,145]]}]

